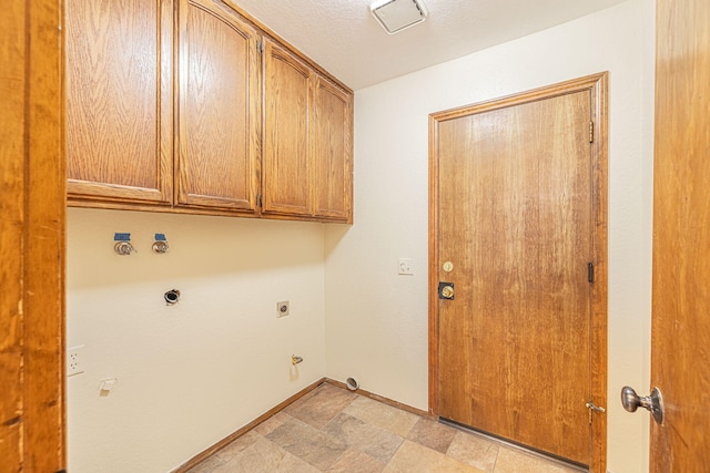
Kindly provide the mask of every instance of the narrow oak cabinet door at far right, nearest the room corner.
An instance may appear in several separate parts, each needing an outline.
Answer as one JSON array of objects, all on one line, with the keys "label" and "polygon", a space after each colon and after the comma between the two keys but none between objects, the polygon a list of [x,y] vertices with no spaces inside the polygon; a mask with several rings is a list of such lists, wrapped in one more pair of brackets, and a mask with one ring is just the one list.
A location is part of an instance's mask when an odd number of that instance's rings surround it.
[{"label": "narrow oak cabinet door at far right, nearest the room corner", "polygon": [[310,126],[315,215],[352,222],[353,95],[317,76],[313,102]]}]

